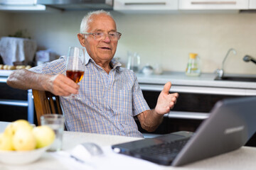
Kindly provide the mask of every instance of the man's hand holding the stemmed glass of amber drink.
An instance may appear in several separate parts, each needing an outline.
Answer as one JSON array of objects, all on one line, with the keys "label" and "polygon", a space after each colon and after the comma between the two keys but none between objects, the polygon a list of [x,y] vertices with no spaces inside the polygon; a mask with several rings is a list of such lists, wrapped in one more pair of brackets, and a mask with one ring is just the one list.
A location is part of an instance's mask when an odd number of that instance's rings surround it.
[{"label": "man's hand holding the stemmed glass of amber drink", "polygon": [[45,88],[57,96],[70,96],[78,94],[79,85],[63,74],[50,76]]}]

